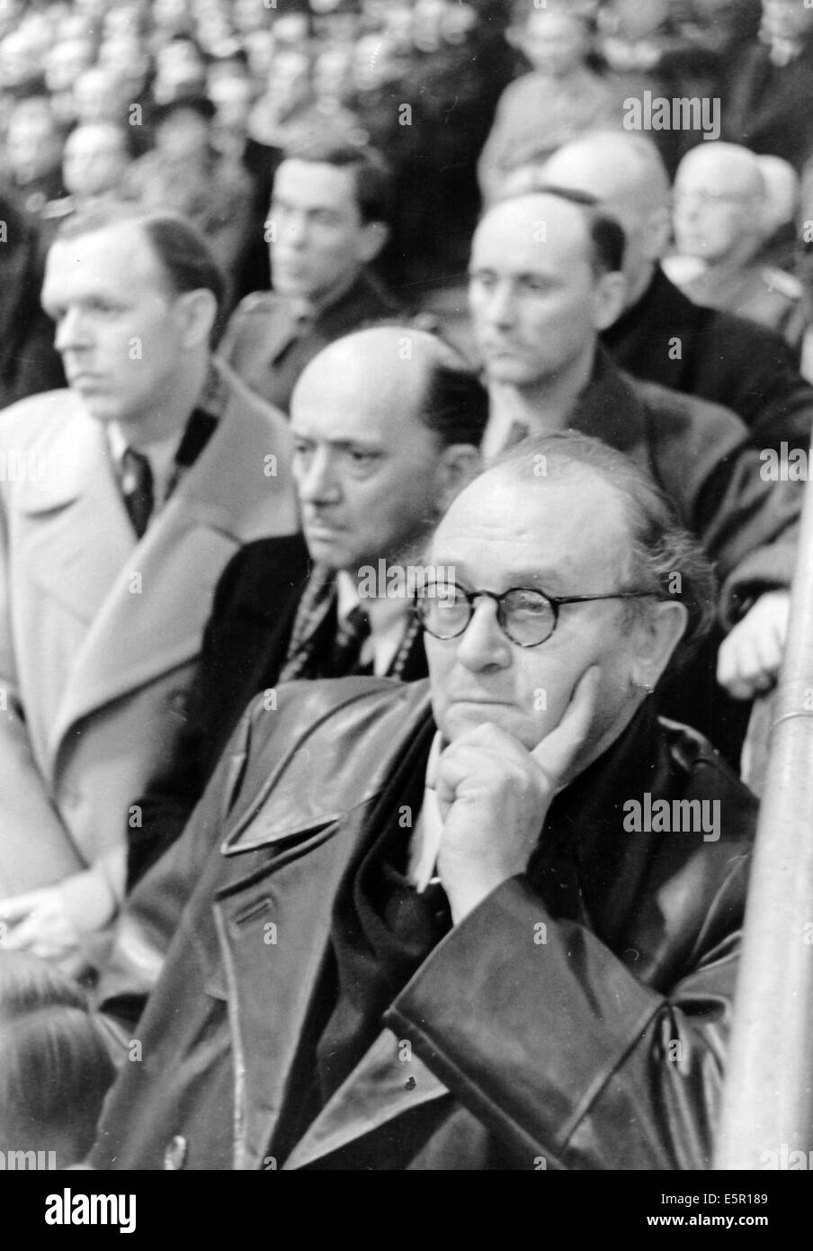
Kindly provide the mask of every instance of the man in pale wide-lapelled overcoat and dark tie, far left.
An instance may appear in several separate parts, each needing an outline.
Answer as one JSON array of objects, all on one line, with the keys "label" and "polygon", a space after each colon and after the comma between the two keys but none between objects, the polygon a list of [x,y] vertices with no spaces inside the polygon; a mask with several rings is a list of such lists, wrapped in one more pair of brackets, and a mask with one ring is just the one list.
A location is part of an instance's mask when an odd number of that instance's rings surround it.
[{"label": "man in pale wide-lapelled overcoat and dark tie, far left", "polygon": [[213,367],[221,290],[184,219],[70,218],[43,286],[69,389],[0,417],[25,465],[0,483],[0,921],[71,967],[123,894],[123,817],[180,729],[220,573],[298,529],[288,423]]}]

